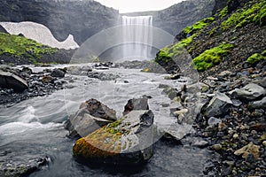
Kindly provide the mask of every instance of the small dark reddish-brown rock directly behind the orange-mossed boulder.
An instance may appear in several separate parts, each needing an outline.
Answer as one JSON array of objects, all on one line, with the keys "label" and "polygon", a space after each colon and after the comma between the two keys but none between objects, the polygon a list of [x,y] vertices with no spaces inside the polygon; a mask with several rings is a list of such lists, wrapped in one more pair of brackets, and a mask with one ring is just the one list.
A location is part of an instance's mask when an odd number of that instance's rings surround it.
[{"label": "small dark reddish-brown rock directly behind the orange-mossed boulder", "polygon": [[129,99],[124,107],[123,115],[133,110],[149,110],[148,99],[146,97]]}]

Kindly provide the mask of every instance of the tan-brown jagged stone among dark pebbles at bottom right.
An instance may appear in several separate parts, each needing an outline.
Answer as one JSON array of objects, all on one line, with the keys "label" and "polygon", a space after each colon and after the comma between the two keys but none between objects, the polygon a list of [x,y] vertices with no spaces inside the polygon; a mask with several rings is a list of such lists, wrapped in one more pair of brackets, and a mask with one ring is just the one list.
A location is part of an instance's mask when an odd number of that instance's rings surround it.
[{"label": "tan-brown jagged stone among dark pebbles at bottom right", "polygon": [[254,145],[253,142],[249,142],[243,148],[234,152],[236,156],[242,155],[242,158],[247,158],[249,154],[253,154],[254,158],[260,157],[260,146]]}]

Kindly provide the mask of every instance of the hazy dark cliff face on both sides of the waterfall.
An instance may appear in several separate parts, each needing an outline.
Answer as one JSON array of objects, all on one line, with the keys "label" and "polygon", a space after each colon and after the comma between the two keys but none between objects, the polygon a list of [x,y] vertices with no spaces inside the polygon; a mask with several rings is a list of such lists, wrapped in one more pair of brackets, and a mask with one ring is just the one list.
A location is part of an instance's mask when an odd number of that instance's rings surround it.
[{"label": "hazy dark cliff face on both sides of the waterfall", "polygon": [[[210,16],[213,7],[214,0],[187,0],[163,11],[144,13],[153,15],[154,27],[176,35],[184,27]],[[49,27],[59,41],[71,34],[78,44],[118,25],[120,18],[118,11],[92,0],[3,0],[0,4],[0,21],[40,23]]]}]

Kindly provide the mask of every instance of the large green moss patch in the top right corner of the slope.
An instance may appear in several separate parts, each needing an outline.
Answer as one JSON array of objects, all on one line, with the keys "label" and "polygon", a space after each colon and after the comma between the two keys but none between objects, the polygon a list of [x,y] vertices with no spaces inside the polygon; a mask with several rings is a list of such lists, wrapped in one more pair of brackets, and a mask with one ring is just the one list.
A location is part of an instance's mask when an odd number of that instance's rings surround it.
[{"label": "large green moss patch in the top right corner of the slope", "polygon": [[223,23],[221,27],[223,30],[235,26],[236,28],[245,27],[249,23],[265,25],[266,21],[266,1],[261,0],[260,3],[252,5],[250,8],[239,9]]}]

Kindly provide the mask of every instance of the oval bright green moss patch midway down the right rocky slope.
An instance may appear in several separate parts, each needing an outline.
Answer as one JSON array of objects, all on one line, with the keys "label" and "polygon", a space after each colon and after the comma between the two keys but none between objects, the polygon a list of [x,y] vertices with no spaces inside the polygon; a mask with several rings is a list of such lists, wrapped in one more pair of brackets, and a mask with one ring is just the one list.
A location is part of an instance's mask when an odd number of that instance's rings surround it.
[{"label": "oval bright green moss patch midway down the right rocky slope", "polygon": [[228,55],[229,50],[233,48],[232,44],[223,43],[215,48],[210,50],[205,50],[197,58],[194,58],[192,63],[196,70],[199,72],[206,71],[213,65],[219,64],[223,57]]}]

